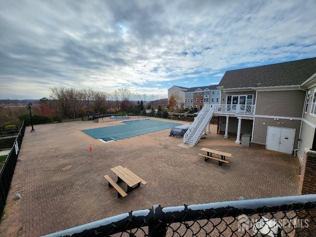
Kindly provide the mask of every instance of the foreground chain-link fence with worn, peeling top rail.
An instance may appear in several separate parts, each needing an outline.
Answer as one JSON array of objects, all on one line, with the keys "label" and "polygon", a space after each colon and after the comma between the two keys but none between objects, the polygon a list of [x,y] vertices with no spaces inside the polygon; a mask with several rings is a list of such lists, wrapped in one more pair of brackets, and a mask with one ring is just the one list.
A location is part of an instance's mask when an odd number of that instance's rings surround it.
[{"label": "foreground chain-link fence with worn, peeling top rail", "polygon": [[155,205],[45,237],[315,237],[316,195]]}]

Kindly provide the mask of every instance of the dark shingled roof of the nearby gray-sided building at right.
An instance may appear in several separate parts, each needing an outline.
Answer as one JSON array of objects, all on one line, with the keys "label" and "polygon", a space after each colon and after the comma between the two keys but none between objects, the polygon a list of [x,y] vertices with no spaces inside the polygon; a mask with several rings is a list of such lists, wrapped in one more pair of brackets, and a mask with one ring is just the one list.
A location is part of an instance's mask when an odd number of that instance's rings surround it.
[{"label": "dark shingled roof of the nearby gray-sided building at right", "polygon": [[316,57],[227,71],[219,86],[249,88],[300,85],[316,72]]}]

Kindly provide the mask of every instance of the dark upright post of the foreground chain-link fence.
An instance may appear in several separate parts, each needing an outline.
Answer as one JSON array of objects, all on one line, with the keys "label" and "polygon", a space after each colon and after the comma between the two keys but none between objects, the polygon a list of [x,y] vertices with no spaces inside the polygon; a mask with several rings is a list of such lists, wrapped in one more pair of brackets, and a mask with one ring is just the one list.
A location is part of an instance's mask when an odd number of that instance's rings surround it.
[{"label": "dark upright post of the foreground chain-link fence", "polygon": [[162,208],[160,205],[153,205],[154,227],[149,226],[149,237],[165,237],[167,224],[160,221],[162,219]]}]

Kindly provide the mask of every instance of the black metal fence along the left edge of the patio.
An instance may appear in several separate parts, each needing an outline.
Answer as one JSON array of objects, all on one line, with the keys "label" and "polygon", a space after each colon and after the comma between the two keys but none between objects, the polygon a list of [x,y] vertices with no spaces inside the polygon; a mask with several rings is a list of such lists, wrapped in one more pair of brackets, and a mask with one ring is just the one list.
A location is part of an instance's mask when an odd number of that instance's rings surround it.
[{"label": "black metal fence along the left edge of the patio", "polygon": [[25,132],[25,122],[23,121],[23,124],[19,130],[19,133],[14,141],[13,147],[9,155],[5,159],[3,166],[0,170],[0,217],[2,216],[3,209],[6,203],[6,197],[9,193],[16,161],[17,161],[20,147],[22,144],[22,140],[24,137],[24,132]]}]

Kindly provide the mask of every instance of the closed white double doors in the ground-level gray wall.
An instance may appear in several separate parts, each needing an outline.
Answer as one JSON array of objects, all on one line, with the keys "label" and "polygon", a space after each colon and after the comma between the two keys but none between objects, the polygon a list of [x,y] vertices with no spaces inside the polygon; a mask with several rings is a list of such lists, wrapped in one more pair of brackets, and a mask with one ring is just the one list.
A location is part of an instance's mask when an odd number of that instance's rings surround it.
[{"label": "closed white double doors in the ground-level gray wall", "polygon": [[268,126],[266,149],[292,154],[295,131],[294,128]]}]

